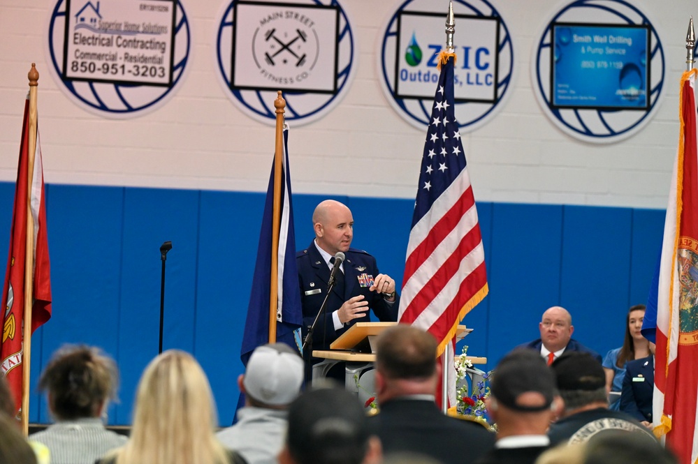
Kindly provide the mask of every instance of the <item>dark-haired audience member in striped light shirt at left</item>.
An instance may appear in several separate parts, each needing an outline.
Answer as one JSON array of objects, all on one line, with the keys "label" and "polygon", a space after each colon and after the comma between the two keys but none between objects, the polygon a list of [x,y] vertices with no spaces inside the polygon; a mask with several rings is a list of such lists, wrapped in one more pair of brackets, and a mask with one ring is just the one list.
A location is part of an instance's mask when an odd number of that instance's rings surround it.
[{"label": "dark-haired audience member in striped light shirt at left", "polygon": [[108,431],[101,421],[115,398],[115,362],[96,347],[66,346],[58,350],[39,379],[56,423],[30,435],[45,444],[52,464],[92,464],[126,437]]}]

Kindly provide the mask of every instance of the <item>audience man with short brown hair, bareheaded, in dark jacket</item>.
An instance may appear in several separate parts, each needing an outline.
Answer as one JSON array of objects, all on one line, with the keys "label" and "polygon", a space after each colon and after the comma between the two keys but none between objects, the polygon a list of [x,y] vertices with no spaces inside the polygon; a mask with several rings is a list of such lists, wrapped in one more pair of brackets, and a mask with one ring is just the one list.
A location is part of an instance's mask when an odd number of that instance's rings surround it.
[{"label": "audience man with short brown hair, bareheaded, in dark jacket", "polygon": [[398,324],[377,340],[376,394],[380,412],[369,419],[384,453],[410,451],[443,464],[463,462],[492,449],[495,435],[481,424],[446,416],[435,403],[441,366],[437,343],[426,331]]}]

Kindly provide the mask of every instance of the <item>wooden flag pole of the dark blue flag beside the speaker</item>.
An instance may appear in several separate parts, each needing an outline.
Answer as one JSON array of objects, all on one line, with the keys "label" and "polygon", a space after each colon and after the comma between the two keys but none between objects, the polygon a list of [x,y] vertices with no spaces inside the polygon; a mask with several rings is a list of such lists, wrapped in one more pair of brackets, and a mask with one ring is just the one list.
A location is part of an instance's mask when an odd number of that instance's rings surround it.
[{"label": "wooden flag pole of the dark blue flag beside the speaker", "polygon": [[276,150],[274,153],[274,207],[272,214],[272,269],[269,292],[269,343],[276,343],[276,321],[279,307],[279,231],[281,230],[281,174],[284,156],[284,108],[286,100],[278,91],[276,108]]}]

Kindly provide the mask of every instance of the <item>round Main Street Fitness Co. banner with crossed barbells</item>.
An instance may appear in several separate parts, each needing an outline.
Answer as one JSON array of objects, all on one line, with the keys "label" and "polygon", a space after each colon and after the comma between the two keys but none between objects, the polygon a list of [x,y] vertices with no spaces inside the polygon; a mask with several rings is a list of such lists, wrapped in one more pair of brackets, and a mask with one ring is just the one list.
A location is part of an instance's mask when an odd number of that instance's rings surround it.
[{"label": "round Main Street Fitness Co. banner with crossed barbells", "polygon": [[219,18],[219,82],[252,119],[275,124],[273,102],[281,90],[286,120],[307,124],[332,110],[349,90],[356,45],[337,1],[233,0]]}]

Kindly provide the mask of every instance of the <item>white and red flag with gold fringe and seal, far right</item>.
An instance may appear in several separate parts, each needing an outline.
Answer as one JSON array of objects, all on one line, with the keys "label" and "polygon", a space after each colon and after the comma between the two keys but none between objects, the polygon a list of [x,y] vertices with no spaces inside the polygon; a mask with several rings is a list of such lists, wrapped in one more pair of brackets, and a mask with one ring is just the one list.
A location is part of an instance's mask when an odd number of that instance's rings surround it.
[{"label": "white and red flag with gold fringe and seal, far right", "polygon": [[[681,131],[658,271],[642,333],[656,339],[653,425],[682,464],[698,461],[698,147],[695,78],[683,73]],[[653,334],[654,332],[654,334]]]}]

